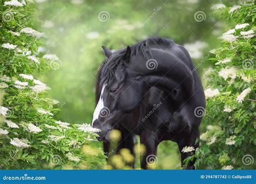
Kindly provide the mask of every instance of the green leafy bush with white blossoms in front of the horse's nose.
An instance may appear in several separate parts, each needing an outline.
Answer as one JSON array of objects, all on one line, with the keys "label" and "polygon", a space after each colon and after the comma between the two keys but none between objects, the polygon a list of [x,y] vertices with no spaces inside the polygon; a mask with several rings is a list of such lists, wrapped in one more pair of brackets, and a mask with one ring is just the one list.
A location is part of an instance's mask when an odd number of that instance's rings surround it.
[{"label": "green leafy bush with white blossoms in front of the horse's nose", "polygon": [[43,34],[28,29],[38,20],[31,2],[18,7],[4,2],[0,5],[0,168],[102,167],[105,156],[93,144],[97,130],[53,119],[60,105],[46,97],[50,88],[35,80],[59,61],[38,49]]}]

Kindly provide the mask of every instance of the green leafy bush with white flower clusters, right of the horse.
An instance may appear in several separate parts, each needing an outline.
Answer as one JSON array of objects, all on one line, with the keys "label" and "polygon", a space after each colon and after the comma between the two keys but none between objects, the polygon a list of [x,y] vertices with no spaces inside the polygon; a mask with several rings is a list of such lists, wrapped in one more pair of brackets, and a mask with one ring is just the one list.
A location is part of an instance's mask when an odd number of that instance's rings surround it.
[{"label": "green leafy bush with white flower clusters, right of the horse", "polygon": [[[230,22],[226,23],[227,27],[234,30],[226,33],[230,36],[224,33],[220,47],[211,51],[209,59],[215,68],[208,71],[207,88],[217,93],[207,98],[202,124],[210,124],[211,130],[201,135],[200,148],[187,159],[197,157],[199,168],[248,169],[253,166],[252,162],[244,164],[243,156],[255,152],[255,5],[247,3],[233,12],[230,10],[231,7],[217,10],[222,19]],[[226,59],[228,62],[224,62]],[[209,154],[200,158],[203,152]]]}]

